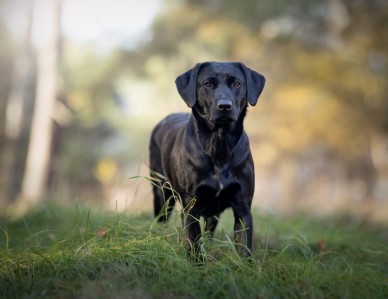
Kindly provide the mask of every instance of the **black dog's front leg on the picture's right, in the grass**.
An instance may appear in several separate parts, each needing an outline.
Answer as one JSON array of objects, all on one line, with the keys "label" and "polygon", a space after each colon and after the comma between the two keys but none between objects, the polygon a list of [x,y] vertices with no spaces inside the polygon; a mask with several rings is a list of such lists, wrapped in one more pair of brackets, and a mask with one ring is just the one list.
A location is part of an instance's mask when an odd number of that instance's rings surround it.
[{"label": "black dog's front leg on the picture's right, in the grass", "polygon": [[233,207],[234,239],[237,252],[246,257],[252,256],[253,222],[250,208],[247,204]]}]

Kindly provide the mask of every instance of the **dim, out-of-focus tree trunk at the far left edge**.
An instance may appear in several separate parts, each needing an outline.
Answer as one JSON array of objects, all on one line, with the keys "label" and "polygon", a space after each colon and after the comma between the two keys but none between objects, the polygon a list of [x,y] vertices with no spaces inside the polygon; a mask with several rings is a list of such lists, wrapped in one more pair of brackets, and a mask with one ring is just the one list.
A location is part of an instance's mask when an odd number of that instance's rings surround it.
[{"label": "dim, out-of-focus tree trunk at the far left edge", "polygon": [[19,177],[23,174],[25,161],[25,131],[27,102],[32,99],[31,86],[32,76],[32,45],[31,29],[34,11],[34,0],[29,0],[27,9],[27,24],[25,34],[20,45],[20,53],[15,55],[11,90],[6,102],[5,112],[5,135],[8,142],[4,146],[3,161],[3,184],[1,198],[9,201],[14,199],[20,191],[21,182]]}]

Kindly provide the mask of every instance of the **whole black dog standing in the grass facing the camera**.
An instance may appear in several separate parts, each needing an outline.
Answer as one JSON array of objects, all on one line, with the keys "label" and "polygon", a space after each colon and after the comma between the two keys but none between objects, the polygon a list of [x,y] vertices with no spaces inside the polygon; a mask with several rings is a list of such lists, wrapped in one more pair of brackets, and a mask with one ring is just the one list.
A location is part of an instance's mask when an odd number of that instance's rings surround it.
[{"label": "whole black dog standing in the grass facing the camera", "polygon": [[179,94],[192,113],[171,114],[153,130],[151,176],[168,188],[154,185],[158,220],[168,220],[180,197],[186,249],[200,258],[201,228],[213,235],[218,217],[231,207],[235,241],[242,255],[251,255],[254,168],[243,129],[248,103],[254,106],[265,78],[242,63],[205,62],[179,76]]}]

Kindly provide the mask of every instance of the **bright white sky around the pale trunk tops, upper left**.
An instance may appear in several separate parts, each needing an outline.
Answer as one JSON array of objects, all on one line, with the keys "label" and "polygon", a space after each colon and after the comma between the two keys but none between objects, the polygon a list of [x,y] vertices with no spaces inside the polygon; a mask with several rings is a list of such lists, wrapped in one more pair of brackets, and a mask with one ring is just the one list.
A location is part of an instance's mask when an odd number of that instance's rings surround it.
[{"label": "bright white sky around the pale trunk tops, upper left", "polygon": [[[26,27],[28,5],[33,0],[6,1],[1,17],[16,38]],[[133,48],[150,38],[149,26],[161,9],[161,0],[62,0],[63,33],[79,42],[96,42],[106,50]],[[34,42],[46,37],[46,22],[51,17],[50,0],[34,0]]]}]

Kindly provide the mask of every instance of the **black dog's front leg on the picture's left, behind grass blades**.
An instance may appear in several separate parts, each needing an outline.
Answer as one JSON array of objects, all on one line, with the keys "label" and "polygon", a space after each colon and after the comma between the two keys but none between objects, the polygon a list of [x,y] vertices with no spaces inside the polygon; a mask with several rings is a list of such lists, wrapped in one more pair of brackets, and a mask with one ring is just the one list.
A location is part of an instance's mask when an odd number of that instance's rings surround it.
[{"label": "black dog's front leg on the picture's left, behind grass blades", "polygon": [[201,254],[199,215],[190,212],[184,215],[183,223],[187,255],[190,260],[201,263],[203,262],[203,256]]}]

